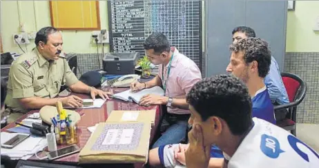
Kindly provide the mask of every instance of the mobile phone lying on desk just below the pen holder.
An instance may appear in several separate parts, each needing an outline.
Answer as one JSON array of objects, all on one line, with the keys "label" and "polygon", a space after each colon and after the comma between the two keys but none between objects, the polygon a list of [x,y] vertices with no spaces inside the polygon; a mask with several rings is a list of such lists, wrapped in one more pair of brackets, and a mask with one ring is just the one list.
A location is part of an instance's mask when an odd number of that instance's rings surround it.
[{"label": "mobile phone lying on desk just below the pen holder", "polygon": [[80,151],[80,149],[79,149],[79,147],[77,145],[70,145],[68,147],[57,149],[56,151],[50,151],[46,155],[48,156],[49,160],[55,160],[57,158],[68,156],[70,154],[75,154],[75,153],[77,153],[79,151]]}]

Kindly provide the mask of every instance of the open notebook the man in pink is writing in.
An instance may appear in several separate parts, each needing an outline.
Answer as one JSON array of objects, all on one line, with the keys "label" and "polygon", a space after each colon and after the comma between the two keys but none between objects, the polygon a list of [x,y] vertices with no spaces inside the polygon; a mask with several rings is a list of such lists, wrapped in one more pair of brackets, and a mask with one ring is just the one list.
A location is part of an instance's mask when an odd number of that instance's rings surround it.
[{"label": "open notebook the man in pink is writing in", "polygon": [[139,100],[146,94],[157,94],[160,96],[164,96],[164,90],[162,87],[155,86],[149,89],[141,90],[139,92],[132,92],[131,90],[126,90],[124,92],[120,92],[113,95],[113,98],[118,98],[123,101],[131,101],[135,103],[139,103]]}]

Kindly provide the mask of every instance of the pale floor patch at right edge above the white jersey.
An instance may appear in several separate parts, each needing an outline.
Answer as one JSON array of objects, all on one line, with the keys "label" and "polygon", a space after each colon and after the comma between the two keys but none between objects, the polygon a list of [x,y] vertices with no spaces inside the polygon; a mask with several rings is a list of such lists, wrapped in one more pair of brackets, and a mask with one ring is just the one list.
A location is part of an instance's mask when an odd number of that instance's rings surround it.
[{"label": "pale floor patch at right edge above the white jersey", "polygon": [[319,152],[319,125],[318,124],[297,124],[297,137],[304,143]]}]

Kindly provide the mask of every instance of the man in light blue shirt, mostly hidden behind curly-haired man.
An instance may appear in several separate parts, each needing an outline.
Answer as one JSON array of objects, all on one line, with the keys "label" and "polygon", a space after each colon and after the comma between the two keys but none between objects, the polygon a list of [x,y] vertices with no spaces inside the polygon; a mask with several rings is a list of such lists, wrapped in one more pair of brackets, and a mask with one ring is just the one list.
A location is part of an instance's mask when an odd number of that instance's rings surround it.
[{"label": "man in light blue shirt, mostly hidden behind curly-haired man", "polygon": [[[247,39],[249,37],[255,37],[255,30],[247,26],[238,26],[233,29],[231,33],[233,35],[233,43],[237,43],[241,39]],[[267,87],[271,102],[273,105],[284,105],[289,103],[288,94],[282,78],[276,59],[271,56],[270,70],[267,76],[264,77],[264,84]],[[280,121],[286,118],[287,110],[282,109],[275,112],[276,120]]]}]

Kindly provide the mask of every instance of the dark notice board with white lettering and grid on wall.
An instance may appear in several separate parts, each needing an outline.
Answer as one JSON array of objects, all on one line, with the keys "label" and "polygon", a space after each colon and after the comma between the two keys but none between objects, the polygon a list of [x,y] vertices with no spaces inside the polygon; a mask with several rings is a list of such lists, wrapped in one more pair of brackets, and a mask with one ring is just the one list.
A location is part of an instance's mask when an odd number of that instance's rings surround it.
[{"label": "dark notice board with white lettering and grid on wall", "polygon": [[162,32],[202,70],[201,1],[108,1],[110,52],[140,52],[152,32]]}]

